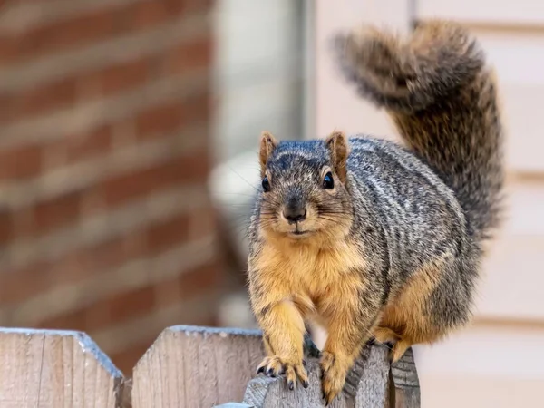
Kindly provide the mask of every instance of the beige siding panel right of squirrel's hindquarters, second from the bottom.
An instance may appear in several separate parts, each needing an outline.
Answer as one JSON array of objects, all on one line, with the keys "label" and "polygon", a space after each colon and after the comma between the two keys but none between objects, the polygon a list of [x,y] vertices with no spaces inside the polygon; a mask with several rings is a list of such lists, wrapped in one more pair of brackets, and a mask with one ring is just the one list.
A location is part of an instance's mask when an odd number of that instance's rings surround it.
[{"label": "beige siding panel right of squirrel's hindquarters, second from the bottom", "polygon": [[544,177],[515,180],[506,222],[491,243],[477,315],[544,322]]}]

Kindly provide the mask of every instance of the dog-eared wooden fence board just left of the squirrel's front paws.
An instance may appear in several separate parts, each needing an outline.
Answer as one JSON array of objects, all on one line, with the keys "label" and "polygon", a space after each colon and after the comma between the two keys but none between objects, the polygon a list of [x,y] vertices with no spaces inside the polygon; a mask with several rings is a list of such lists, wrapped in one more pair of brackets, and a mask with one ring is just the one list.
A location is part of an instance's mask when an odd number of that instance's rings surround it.
[{"label": "dog-eared wooden fence board just left of the squirrel's front paws", "polygon": [[169,327],[134,368],[132,405],[209,408],[241,401],[263,357],[258,331]]}]

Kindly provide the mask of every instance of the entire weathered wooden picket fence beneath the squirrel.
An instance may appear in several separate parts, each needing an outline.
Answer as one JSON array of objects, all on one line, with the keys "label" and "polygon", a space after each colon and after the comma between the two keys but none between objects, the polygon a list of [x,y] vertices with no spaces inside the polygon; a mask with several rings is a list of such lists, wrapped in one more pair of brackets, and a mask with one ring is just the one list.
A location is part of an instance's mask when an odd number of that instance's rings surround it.
[{"label": "entire weathered wooden picket fence beneath the squirrel", "polygon": [[[331,406],[419,407],[412,351],[393,366],[386,352],[366,347]],[[315,357],[306,363],[310,386],[289,391],[282,378],[255,374],[263,355],[257,331],[173,326],[124,378],[81,332],[0,328],[0,407],[325,406]]]}]

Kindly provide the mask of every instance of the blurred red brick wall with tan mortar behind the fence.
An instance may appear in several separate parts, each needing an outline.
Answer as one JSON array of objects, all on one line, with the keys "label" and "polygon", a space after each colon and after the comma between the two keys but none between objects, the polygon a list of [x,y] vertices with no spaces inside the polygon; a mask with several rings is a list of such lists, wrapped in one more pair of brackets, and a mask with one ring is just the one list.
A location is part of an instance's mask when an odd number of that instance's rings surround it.
[{"label": "blurred red brick wall with tan mortar behind the fence", "polygon": [[85,330],[124,371],[213,325],[211,2],[0,7],[0,325]]}]

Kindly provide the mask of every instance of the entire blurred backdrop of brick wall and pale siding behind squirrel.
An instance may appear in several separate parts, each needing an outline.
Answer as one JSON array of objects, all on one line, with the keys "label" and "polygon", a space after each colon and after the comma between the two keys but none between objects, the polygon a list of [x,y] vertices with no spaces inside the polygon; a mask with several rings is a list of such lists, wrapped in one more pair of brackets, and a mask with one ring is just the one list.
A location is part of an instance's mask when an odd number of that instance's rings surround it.
[{"label": "entire blurred backdrop of brick wall and pale siding behind squirrel", "polygon": [[327,40],[433,16],[468,25],[497,68],[510,198],[473,325],[415,347],[423,407],[539,406],[536,0],[0,1],[0,325],[84,330],[125,374],[167,325],[253,327],[259,132],[396,139],[335,73]]}]

